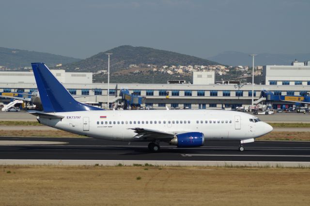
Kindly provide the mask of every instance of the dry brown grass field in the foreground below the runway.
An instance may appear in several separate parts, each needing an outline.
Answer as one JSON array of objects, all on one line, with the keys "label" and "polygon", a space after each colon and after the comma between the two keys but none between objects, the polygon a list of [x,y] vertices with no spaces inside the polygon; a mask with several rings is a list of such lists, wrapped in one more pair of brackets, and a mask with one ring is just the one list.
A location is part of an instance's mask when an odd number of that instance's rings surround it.
[{"label": "dry brown grass field in the foreground below the runway", "polygon": [[0,205],[309,205],[309,168],[0,166]]}]

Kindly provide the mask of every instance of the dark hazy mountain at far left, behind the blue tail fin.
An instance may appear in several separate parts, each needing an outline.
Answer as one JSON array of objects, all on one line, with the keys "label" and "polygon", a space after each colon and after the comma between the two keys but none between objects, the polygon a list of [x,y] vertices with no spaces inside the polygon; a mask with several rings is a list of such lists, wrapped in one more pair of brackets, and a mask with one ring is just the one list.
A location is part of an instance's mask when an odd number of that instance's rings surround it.
[{"label": "dark hazy mountain at far left, behind the blue tail fin", "polygon": [[48,66],[55,66],[56,64],[67,64],[78,60],[80,59],[44,52],[0,47],[0,66],[11,69],[31,67],[31,62],[45,62]]}]

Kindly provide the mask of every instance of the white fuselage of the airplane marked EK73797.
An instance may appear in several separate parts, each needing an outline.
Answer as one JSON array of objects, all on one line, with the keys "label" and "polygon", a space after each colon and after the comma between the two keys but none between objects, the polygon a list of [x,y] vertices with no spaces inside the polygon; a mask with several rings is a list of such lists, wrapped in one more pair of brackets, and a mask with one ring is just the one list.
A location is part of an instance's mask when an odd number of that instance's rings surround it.
[{"label": "white fuselage of the airplane marked EK73797", "polygon": [[55,115],[64,118],[38,119],[42,124],[67,132],[119,141],[147,141],[134,138],[137,133],[130,128],[174,134],[202,132],[205,140],[226,141],[257,138],[272,131],[267,123],[250,120],[257,119],[255,116],[224,110],[103,110]]}]

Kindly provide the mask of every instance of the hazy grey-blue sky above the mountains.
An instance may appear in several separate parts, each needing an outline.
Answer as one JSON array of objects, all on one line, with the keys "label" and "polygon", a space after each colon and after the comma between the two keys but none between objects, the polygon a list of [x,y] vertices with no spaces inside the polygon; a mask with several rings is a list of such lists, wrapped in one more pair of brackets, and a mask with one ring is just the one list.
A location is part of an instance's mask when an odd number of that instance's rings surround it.
[{"label": "hazy grey-blue sky above the mountains", "polygon": [[309,22],[310,0],[0,0],[0,46],[82,59],[125,44],[309,53]]}]

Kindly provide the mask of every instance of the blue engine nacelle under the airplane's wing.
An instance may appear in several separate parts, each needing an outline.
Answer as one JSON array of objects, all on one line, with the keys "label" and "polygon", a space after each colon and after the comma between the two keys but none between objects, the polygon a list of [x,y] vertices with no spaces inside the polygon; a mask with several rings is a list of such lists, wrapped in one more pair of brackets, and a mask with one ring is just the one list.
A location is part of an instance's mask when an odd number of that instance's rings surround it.
[{"label": "blue engine nacelle under the airplane's wing", "polygon": [[202,132],[181,133],[175,135],[170,144],[178,147],[201,147],[204,144],[204,136]]}]

